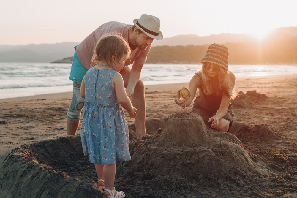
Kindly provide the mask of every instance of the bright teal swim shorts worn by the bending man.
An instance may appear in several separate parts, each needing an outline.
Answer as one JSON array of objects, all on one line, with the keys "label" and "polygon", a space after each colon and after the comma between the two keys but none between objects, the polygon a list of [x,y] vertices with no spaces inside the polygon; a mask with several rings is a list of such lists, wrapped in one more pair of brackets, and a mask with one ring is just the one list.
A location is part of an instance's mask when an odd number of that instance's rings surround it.
[{"label": "bright teal swim shorts worn by the bending man", "polygon": [[[71,71],[69,80],[72,80],[76,83],[81,83],[83,81],[83,77],[86,75],[86,72],[88,71],[86,68],[83,67],[83,65],[80,63],[78,56],[76,54],[76,47],[74,47],[75,52],[73,55],[73,61],[71,65]],[[125,66],[123,69],[129,68],[129,66]]]}]

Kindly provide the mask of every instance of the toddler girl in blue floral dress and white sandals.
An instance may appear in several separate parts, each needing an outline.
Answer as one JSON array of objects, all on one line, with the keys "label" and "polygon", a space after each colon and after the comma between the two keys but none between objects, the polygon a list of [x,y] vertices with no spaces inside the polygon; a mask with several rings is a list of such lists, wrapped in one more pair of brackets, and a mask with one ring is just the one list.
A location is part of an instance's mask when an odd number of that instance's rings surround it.
[{"label": "toddler girl in blue floral dress and white sandals", "polygon": [[128,98],[119,71],[131,55],[120,34],[99,39],[92,59],[94,67],[83,78],[80,96],[85,98],[81,142],[83,152],[95,164],[98,186],[108,197],[124,197],[113,187],[116,161],[130,160],[129,131],[121,107],[134,118],[135,109]]}]

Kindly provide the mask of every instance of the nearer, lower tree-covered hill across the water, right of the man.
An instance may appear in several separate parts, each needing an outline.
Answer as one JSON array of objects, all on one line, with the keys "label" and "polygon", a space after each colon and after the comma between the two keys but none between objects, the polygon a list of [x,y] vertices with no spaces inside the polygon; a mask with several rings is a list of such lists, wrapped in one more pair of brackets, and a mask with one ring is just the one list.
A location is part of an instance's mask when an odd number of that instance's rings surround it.
[{"label": "nearer, lower tree-covered hill across the water, right of the man", "polygon": [[[297,37],[270,37],[261,42],[221,44],[228,47],[229,64],[297,63]],[[146,63],[199,63],[209,45],[151,47]]]}]

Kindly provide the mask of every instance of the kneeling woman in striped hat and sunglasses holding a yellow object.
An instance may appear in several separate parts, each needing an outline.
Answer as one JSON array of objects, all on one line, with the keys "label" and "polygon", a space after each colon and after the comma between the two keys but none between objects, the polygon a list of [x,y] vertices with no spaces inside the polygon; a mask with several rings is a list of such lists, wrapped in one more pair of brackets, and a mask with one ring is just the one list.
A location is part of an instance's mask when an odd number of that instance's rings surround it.
[{"label": "kneeling woman in striped hat and sunglasses holding a yellow object", "polygon": [[228,49],[224,45],[212,44],[208,47],[202,63],[202,70],[189,82],[189,98],[180,99],[179,92],[175,102],[182,108],[189,106],[197,88],[199,95],[194,100],[191,113],[202,116],[207,127],[228,132],[233,123],[233,111],[230,99],[236,97],[233,91],[235,76],[228,71]]}]

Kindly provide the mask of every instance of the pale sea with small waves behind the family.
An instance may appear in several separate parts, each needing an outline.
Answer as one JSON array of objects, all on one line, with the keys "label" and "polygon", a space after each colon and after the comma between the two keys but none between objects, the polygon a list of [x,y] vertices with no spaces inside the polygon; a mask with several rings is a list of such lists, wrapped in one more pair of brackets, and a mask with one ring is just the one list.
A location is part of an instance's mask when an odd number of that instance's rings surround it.
[{"label": "pale sea with small waves behind the family", "polygon": [[[140,78],[145,85],[187,83],[201,66],[145,64]],[[0,63],[0,99],[72,91],[70,69],[61,63]],[[297,74],[290,65],[229,65],[229,70],[236,77]]]}]

